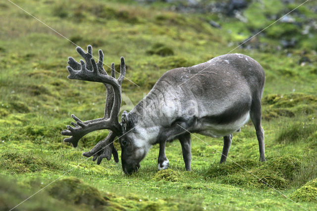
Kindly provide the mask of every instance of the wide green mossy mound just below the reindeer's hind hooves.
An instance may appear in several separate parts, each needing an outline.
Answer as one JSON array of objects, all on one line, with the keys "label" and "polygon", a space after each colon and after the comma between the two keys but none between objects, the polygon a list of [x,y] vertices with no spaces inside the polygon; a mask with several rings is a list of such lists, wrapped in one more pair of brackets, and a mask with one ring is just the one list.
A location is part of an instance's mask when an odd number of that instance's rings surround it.
[{"label": "wide green mossy mound just below the reindeer's hind hooves", "polygon": [[212,164],[205,176],[230,185],[284,189],[293,181],[300,164],[299,159],[293,156],[271,158],[266,162],[245,159]]}]

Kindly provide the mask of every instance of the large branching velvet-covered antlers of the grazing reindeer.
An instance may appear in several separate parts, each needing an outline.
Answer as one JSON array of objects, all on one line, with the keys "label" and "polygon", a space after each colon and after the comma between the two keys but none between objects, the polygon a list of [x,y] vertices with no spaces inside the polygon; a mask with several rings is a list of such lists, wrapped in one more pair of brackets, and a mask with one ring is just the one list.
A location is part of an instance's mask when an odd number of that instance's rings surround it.
[{"label": "large branching velvet-covered antlers of the grazing reindeer", "polygon": [[99,159],[99,164],[103,158],[108,160],[111,158],[111,152],[115,161],[118,161],[118,154],[113,146],[113,140],[116,136],[121,134],[121,126],[118,122],[118,114],[121,106],[121,84],[125,76],[125,62],[124,58],[121,57],[120,63],[120,76],[115,79],[114,64],[111,64],[111,76],[109,76],[103,66],[104,53],[99,50],[99,61],[96,61],[92,57],[92,47],[87,47],[87,53],[80,47],[76,48],[77,52],[85,59],[86,64],[83,60],[78,63],[74,58],[69,57],[67,66],[69,79],[79,79],[84,81],[101,82],[106,86],[106,106],[105,115],[103,118],[93,119],[82,122],[75,115],[71,115],[76,123],[71,122],[74,127],[67,125],[68,130],[61,132],[62,135],[71,136],[64,139],[64,142],[72,143],[74,147],[77,147],[79,139],[86,134],[102,129],[111,130],[103,141],[100,141],[89,153],[84,153],[86,157],[94,155],[93,160]]}]

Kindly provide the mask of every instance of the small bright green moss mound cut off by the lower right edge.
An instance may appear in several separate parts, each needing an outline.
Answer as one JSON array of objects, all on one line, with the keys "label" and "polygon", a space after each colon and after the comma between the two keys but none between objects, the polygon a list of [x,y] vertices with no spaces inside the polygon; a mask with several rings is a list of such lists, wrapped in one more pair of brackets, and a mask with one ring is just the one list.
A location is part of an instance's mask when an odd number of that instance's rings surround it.
[{"label": "small bright green moss mound cut off by the lower right edge", "polygon": [[317,179],[297,189],[290,198],[297,202],[317,202]]}]

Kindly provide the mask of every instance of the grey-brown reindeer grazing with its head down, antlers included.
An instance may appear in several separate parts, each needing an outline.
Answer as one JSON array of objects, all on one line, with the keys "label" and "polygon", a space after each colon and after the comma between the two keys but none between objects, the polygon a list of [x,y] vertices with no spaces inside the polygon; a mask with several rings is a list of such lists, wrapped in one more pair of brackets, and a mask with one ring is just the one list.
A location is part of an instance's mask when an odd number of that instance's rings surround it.
[{"label": "grey-brown reindeer grazing with its head down, antlers included", "polygon": [[158,168],[165,169],[169,162],[165,156],[165,143],[178,139],[182,146],[186,170],[191,170],[190,133],[223,137],[220,163],[225,162],[231,145],[232,133],[249,120],[255,126],[259,141],[260,160],[264,157],[264,133],[261,126],[261,98],[264,89],[264,70],[261,65],[243,54],[226,54],[192,67],[180,67],[164,73],[150,93],[129,113],[124,111],[121,124],[118,114],[121,104],[121,83],[125,76],[124,58],[121,57],[120,76],[115,79],[114,64],[111,76],[103,68],[104,54],[99,51],[99,62],[77,47],[86,60],[80,63],[69,57],[69,79],[101,82],[106,86],[106,108],[103,118],[82,122],[72,115],[74,127],[67,125],[62,135],[71,136],[65,142],[74,147],[84,135],[102,129],[110,132],[86,157],[108,160],[111,153],[116,162],[118,154],[112,142],[119,137],[124,173],[140,168],[140,161],[154,144],[159,144]]}]

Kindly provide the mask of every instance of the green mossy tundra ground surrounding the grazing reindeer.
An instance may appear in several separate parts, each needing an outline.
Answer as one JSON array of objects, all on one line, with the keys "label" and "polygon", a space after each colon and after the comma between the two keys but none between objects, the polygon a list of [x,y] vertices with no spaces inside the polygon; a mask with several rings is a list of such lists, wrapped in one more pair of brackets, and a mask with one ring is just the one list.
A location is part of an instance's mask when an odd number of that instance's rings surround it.
[{"label": "green mossy tundra ground surrounding the grazing reindeer", "polygon": [[[124,56],[126,77],[140,86],[122,84],[123,96],[134,105],[165,71],[228,53],[303,1],[247,0],[233,15],[221,9],[195,13],[180,2],[16,1],[77,45],[91,44],[95,55],[103,49],[106,64],[118,65]],[[207,2],[217,5],[215,0],[200,3]],[[264,67],[266,162],[259,161],[250,121],[233,134],[228,158],[234,162],[218,164],[214,149],[222,150],[221,138],[197,135],[192,136],[192,171],[185,171],[181,146],[174,141],[166,144],[168,169],[158,171],[156,145],[141,162],[142,170],[127,176],[113,159],[97,165],[82,156],[107,130],[86,135],[77,148],[62,142],[70,110],[83,120],[103,115],[104,87],[69,81],[67,57],[80,59],[74,45],[2,1],[0,210],[60,176],[17,210],[316,210],[316,11],[316,1],[310,0],[233,52]],[[127,97],[125,110],[132,108]],[[118,142],[114,145],[120,157]]]}]

